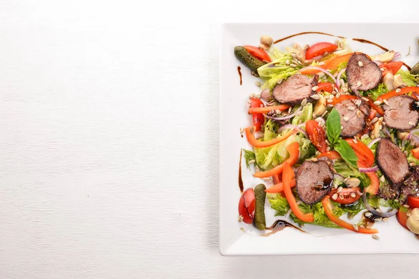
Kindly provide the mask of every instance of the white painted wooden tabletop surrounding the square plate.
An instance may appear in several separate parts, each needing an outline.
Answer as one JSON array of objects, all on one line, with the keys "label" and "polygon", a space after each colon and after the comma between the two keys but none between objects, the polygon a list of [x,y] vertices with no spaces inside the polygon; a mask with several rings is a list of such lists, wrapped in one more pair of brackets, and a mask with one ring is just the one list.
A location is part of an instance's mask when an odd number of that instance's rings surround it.
[{"label": "white painted wooden tabletop surrounding the square plate", "polygon": [[0,278],[415,277],[218,252],[219,24],[417,18],[372,2],[0,1]]}]

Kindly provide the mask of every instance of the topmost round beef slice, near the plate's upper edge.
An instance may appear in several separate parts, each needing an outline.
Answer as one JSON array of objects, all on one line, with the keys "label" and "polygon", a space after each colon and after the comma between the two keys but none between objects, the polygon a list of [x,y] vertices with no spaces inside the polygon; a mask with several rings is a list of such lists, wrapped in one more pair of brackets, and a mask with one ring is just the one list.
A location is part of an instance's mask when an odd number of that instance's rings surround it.
[{"label": "topmost round beef slice, near the plate's upper edge", "polygon": [[366,91],[376,87],[382,76],[383,73],[377,64],[363,53],[353,54],[348,60],[346,78],[349,87],[357,96],[359,90]]}]

